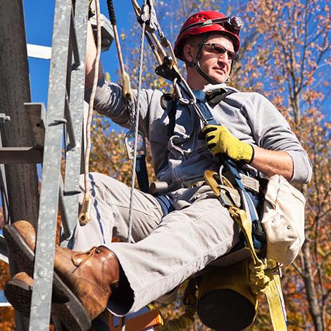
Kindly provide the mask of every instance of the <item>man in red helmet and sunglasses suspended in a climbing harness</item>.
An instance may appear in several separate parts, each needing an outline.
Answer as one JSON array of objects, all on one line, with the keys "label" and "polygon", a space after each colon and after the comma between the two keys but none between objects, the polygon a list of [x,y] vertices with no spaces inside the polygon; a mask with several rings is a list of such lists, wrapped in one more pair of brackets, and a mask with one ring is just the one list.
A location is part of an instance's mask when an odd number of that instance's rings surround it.
[{"label": "man in red helmet and sunglasses suspended in a climbing harness", "polygon": [[[261,94],[239,92],[223,84],[229,80],[240,46],[236,21],[224,23],[223,18],[225,15],[213,11],[195,13],[185,21],[175,43],[176,56],[187,64],[189,87],[219,125],[202,129],[192,108],[177,104],[175,125],[168,137],[169,118],[161,107],[162,92],[142,90],[139,128],[151,144],[158,180],[167,182],[169,190],[160,196],[135,192],[135,243],[111,242],[113,235],[127,236],[130,189],[92,173],[92,220],[85,226],[77,225],[70,247],[73,250],[56,248],[56,277],[68,286],[91,319],[106,306],[118,315],[139,310],[237,244],[239,228],[227,208],[208,185],[192,187],[201,181],[205,170],[218,169],[214,156],[226,154],[256,175],[279,174],[292,182],[310,180],[311,163],[306,152],[270,101]],[[95,54],[94,42],[89,43],[88,88]],[[130,114],[120,86],[105,82],[102,69],[99,77],[94,108],[127,127]],[[208,94],[220,87],[218,84],[234,93],[219,104],[208,104],[199,91]],[[89,93],[87,89],[87,99]],[[35,238],[29,225],[18,222],[6,232],[9,249],[15,251],[15,244],[25,241],[33,251]],[[27,282],[26,278],[16,280]]]}]

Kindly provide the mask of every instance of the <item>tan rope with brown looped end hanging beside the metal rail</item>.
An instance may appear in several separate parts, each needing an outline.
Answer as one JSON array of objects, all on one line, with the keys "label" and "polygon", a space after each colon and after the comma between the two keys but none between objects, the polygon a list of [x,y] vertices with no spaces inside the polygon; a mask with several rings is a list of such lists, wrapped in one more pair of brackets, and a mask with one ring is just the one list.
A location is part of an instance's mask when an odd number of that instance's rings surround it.
[{"label": "tan rope with brown looped end hanging beside the metal rail", "polygon": [[94,64],[94,79],[93,79],[93,87],[91,93],[91,99],[89,100],[89,115],[86,123],[86,149],[85,149],[85,168],[84,168],[84,186],[85,193],[82,202],[82,209],[80,215],[78,216],[81,225],[85,225],[90,220],[90,210],[92,200],[89,196],[90,191],[90,182],[89,182],[89,154],[91,149],[91,124],[92,124],[92,115],[93,115],[93,105],[94,98],[96,94],[96,85],[98,83],[99,77],[99,61],[101,54],[101,24],[100,24],[100,5],[99,0],[95,0],[96,6],[96,58]]}]

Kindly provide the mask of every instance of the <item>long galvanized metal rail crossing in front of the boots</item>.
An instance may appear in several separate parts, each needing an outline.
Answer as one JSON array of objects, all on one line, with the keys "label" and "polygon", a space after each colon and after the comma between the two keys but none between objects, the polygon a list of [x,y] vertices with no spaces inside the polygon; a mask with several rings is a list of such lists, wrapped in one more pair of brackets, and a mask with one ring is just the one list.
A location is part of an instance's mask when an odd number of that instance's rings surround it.
[{"label": "long galvanized metal rail crossing in front of the boots", "polygon": [[[82,1],[76,1],[76,22],[78,20],[77,13],[80,13],[80,10],[85,10],[85,14],[82,14],[80,18],[83,21],[87,20],[87,4],[85,3],[84,5],[81,3]],[[73,49],[75,49],[75,45],[69,44],[70,37],[73,37],[70,36],[70,31],[71,33],[73,32],[73,28],[70,29],[71,25],[73,25],[71,1],[56,1],[49,73],[42,185],[39,199],[38,237],[35,251],[34,290],[32,292],[30,311],[30,331],[48,330],[51,315],[54,249],[56,243],[58,201],[60,198],[59,187],[61,187],[62,139],[64,124],[68,123],[69,111],[68,109],[65,120],[66,80],[68,76],[73,75],[73,73],[72,75],[67,75],[68,58],[72,58],[72,56],[68,56],[68,52],[70,46],[73,46]],[[82,42],[82,39],[80,39],[80,42]],[[84,65],[80,65],[75,67],[74,71],[80,71],[85,75],[84,68]],[[75,82],[75,84],[77,83]],[[71,87],[74,88],[75,84]],[[70,99],[72,93],[73,91],[71,90]],[[83,96],[80,96],[80,98],[83,99]],[[70,106],[70,115],[72,118],[75,118],[75,115],[71,113],[73,108]],[[74,122],[76,124],[75,119],[72,121],[72,124]],[[77,120],[78,122],[81,123],[81,120]],[[78,130],[81,130],[81,126],[80,129],[77,129],[77,132]],[[75,137],[75,140],[77,137],[80,137],[80,134]],[[77,147],[77,142],[75,147]],[[75,206],[77,211],[77,204]]]}]

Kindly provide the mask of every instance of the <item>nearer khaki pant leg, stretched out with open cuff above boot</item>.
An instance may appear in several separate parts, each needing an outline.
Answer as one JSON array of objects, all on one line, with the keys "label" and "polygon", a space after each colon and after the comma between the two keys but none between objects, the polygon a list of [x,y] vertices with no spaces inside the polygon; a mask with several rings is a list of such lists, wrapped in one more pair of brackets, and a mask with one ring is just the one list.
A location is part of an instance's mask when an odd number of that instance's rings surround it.
[{"label": "nearer khaki pant leg, stretched out with open cuff above boot", "polygon": [[227,209],[211,194],[201,196],[196,192],[195,196],[199,199],[186,199],[186,208],[169,213],[140,242],[106,245],[118,256],[134,297],[133,304],[132,298],[123,304],[123,300],[119,303],[117,297],[111,296],[108,308],[113,313],[138,311],[238,242],[239,228]]}]

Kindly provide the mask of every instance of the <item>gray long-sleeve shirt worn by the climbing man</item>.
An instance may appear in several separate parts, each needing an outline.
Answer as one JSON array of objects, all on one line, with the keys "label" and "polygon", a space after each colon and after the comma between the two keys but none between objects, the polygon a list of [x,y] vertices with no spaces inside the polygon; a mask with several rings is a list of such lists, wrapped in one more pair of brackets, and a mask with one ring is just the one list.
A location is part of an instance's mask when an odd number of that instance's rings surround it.
[{"label": "gray long-sleeve shirt worn by the climbing man", "polygon": [[[227,87],[233,89],[232,87]],[[211,108],[216,122],[225,125],[243,142],[264,149],[286,151],[293,160],[292,182],[309,182],[311,162],[289,124],[266,97],[255,92],[239,92],[227,96],[225,101]],[[207,169],[217,169],[217,160],[198,139],[201,121],[189,107],[177,108],[175,130],[168,138],[168,113],[161,107],[162,92],[142,89],[140,99],[139,130],[151,144],[151,156],[158,180],[168,182],[174,189],[183,182],[200,180]],[[89,99],[89,92],[86,93]],[[135,103],[137,93],[134,91]],[[99,81],[94,108],[107,115],[114,123],[129,127],[130,114],[122,99],[119,85]],[[168,153],[165,153],[166,151]],[[168,164],[161,165],[168,157]]]}]

